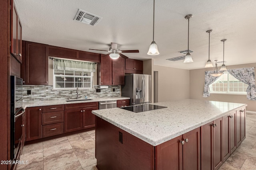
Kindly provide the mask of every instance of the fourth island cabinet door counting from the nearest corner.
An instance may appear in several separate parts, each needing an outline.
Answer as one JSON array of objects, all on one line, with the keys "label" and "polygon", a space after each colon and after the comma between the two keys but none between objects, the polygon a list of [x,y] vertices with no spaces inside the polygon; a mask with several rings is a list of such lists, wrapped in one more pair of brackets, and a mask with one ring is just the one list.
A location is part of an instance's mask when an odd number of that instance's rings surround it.
[{"label": "fourth island cabinet door counting from the nearest corner", "polygon": [[223,119],[220,117],[213,121],[213,162],[214,170],[223,164]]}]

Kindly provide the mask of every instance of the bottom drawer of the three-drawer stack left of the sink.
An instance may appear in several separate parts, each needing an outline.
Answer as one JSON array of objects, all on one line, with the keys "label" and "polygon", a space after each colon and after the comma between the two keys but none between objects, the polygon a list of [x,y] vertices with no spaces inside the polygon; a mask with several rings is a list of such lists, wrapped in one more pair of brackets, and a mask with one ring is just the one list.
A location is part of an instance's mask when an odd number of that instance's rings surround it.
[{"label": "bottom drawer of the three-drawer stack left of the sink", "polygon": [[54,123],[42,126],[42,137],[59,135],[64,132],[64,123]]}]

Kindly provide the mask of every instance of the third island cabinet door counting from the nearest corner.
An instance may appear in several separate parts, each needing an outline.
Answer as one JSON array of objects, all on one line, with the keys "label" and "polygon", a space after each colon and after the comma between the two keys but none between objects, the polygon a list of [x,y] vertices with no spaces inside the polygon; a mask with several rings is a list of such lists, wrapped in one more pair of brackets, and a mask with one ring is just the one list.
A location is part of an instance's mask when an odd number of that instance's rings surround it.
[{"label": "third island cabinet door counting from the nearest corner", "polygon": [[201,126],[201,169],[213,169],[213,121]]}]

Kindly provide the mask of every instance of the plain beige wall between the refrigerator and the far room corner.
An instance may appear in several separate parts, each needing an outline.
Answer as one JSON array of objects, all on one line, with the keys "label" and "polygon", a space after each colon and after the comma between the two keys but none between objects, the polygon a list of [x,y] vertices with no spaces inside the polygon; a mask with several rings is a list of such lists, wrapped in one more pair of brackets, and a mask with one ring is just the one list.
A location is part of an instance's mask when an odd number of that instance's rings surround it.
[{"label": "plain beige wall between the refrigerator and the far room corner", "polygon": [[189,70],[154,65],[158,71],[158,102],[190,98]]}]

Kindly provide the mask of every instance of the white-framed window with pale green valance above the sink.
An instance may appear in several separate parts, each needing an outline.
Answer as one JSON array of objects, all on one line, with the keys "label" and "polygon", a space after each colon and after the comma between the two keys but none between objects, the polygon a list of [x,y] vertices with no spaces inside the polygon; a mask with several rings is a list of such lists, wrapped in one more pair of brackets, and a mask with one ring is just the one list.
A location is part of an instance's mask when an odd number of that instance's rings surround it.
[{"label": "white-framed window with pale green valance above the sink", "polygon": [[96,63],[53,59],[53,88],[92,88]]}]

